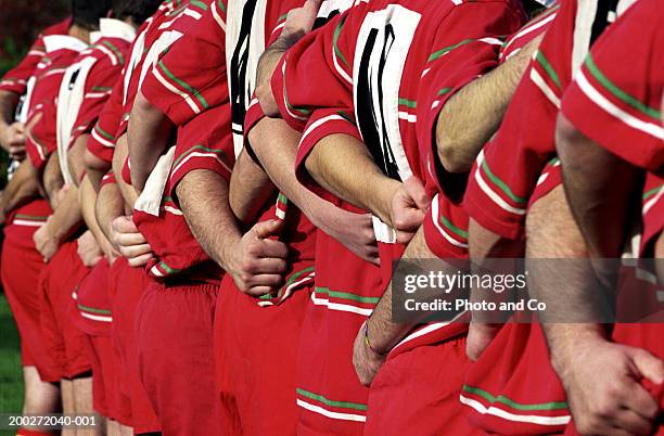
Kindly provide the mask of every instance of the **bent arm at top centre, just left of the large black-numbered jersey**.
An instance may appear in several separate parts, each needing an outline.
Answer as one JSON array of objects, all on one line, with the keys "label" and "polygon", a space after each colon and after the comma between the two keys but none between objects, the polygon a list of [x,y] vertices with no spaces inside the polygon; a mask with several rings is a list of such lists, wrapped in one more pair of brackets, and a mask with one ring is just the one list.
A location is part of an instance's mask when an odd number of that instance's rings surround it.
[{"label": "bent arm at top centre, just left of the large black-numbered jersey", "polygon": [[283,53],[311,31],[322,0],[307,0],[302,8],[289,12],[279,38],[260,55],[256,69],[256,97],[267,116],[279,116],[279,107],[272,95],[270,78]]}]

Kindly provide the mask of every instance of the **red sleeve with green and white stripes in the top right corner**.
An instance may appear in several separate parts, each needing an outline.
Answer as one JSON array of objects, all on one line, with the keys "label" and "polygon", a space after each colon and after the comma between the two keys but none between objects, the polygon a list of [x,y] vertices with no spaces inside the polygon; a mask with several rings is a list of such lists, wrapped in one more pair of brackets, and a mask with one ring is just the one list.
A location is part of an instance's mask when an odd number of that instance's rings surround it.
[{"label": "red sleeve with green and white stripes in the top right corner", "polygon": [[562,101],[586,137],[651,171],[664,164],[663,18],[656,1],[631,7],[592,46]]}]

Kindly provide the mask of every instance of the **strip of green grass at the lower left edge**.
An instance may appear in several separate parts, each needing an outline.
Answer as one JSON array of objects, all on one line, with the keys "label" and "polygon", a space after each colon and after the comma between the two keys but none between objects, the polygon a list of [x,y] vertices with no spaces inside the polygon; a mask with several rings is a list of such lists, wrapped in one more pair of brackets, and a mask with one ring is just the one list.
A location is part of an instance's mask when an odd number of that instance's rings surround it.
[{"label": "strip of green grass at the lower left edge", "polygon": [[[23,376],[18,332],[7,298],[0,294],[0,413],[21,412],[23,403]],[[15,432],[0,431],[0,436]]]}]

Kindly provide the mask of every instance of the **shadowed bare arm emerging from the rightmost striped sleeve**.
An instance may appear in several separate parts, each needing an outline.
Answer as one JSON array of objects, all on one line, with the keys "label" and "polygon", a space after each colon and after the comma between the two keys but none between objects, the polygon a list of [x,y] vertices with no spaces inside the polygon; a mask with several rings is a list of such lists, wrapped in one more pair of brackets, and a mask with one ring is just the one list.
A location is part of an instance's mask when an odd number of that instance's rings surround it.
[{"label": "shadowed bare arm emerging from the rightmost striped sleeve", "polygon": [[[595,258],[623,252],[640,171],[595,143],[559,116],[557,150],[572,215]],[[608,219],[611,217],[611,219]]]}]

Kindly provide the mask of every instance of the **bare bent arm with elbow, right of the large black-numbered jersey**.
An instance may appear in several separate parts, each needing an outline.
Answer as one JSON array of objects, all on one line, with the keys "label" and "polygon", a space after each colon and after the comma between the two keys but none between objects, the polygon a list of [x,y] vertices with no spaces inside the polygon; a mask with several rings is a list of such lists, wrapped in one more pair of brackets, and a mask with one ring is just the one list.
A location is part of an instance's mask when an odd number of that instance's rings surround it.
[{"label": "bare bent arm with elbow, right of the large black-numbered jersey", "polygon": [[[449,172],[470,170],[477,153],[500,126],[514,90],[541,37],[452,95],[436,123],[438,158]],[[469,128],[472,126],[472,128]]]}]

